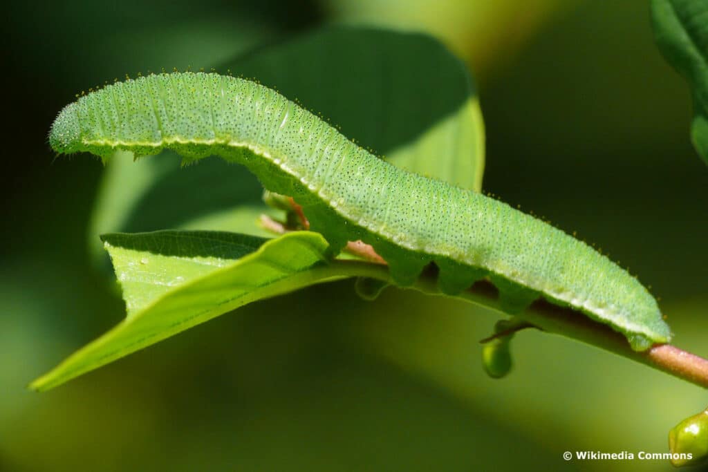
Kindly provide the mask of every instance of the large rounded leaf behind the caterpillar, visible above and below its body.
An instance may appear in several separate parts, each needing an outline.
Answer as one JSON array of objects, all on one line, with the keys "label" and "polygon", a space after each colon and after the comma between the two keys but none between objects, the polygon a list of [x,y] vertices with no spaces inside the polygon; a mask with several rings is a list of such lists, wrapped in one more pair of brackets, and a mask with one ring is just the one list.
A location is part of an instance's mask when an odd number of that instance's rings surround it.
[{"label": "large rounded leaf behind the caterpillar, visible above and below its body", "polygon": [[[326,28],[224,62],[341,125],[348,137],[396,165],[479,190],[484,126],[466,67],[426,35]],[[269,210],[240,166],[202,159],[181,168],[164,153],[108,163],[89,240],[113,231],[211,229],[265,235],[250,218]],[[249,217],[234,209],[246,205]],[[270,210],[270,214],[273,211]],[[235,216],[234,216],[235,215]]]}]

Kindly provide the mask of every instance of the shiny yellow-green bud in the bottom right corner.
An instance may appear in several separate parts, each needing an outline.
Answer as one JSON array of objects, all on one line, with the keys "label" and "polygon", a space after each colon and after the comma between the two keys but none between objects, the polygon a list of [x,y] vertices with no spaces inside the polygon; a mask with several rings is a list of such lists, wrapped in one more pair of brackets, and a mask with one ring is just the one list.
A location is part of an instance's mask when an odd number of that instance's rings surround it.
[{"label": "shiny yellow-green bud in the bottom right corner", "polygon": [[708,408],[686,418],[668,433],[668,448],[676,467],[696,464],[708,456]]}]

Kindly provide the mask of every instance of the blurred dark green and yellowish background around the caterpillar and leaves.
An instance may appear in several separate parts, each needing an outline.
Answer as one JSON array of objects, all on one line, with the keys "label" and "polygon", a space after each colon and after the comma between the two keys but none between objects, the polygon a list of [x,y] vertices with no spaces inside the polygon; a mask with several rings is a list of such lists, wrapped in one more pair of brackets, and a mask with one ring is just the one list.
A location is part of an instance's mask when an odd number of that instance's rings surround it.
[{"label": "blurred dark green and yellowish background around the caterpillar and leaves", "polygon": [[700,388],[542,333],[492,380],[496,316],[353,282],[246,306],[38,394],[25,385],[120,321],[86,227],[101,176],[55,159],[52,119],[114,76],[219,64],[324,23],[429,31],[470,65],[484,188],[577,230],[661,297],[675,343],[708,356],[708,169],[690,97],[643,0],[15,2],[6,10],[0,470],[669,470],[564,451],[667,450]]}]

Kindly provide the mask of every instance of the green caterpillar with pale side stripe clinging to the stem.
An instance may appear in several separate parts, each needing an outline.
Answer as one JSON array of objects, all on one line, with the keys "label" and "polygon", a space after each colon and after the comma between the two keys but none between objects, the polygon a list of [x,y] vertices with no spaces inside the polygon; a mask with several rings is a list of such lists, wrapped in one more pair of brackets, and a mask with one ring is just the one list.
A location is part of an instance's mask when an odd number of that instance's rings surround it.
[{"label": "green caterpillar with pale side stripe clinging to the stem", "polygon": [[487,278],[510,312],[543,297],[606,323],[634,350],[671,336],[651,294],[585,243],[503,202],[377,159],[252,81],[185,72],[106,86],[67,105],[49,140],[59,153],[104,160],[118,149],[173,149],[187,161],[216,154],[295,197],[334,254],[347,241],[372,245],[396,284],[412,284],[435,263],[445,294]]}]

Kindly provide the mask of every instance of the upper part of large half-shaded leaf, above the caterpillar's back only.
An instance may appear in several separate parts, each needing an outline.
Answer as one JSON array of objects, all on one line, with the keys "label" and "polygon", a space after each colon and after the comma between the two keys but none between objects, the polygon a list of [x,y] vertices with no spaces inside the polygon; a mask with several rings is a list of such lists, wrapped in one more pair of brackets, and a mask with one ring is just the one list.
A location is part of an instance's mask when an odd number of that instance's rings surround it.
[{"label": "upper part of large half-shaded leaf, above the caterpillar's back only", "polygon": [[476,88],[464,63],[428,35],[330,27],[227,68],[297,98],[397,166],[481,190]]}]

